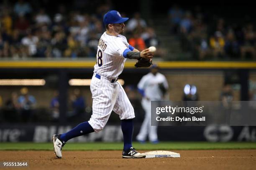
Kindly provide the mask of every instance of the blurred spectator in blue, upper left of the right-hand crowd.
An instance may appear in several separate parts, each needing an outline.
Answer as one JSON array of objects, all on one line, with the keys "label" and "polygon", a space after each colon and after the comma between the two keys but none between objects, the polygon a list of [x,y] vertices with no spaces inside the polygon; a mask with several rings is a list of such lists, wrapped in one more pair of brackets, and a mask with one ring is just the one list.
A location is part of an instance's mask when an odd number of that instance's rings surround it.
[{"label": "blurred spectator in blue, upper left of the right-hand crowd", "polygon": [[178,28],[182,20],[183,13],[183,10],[176,4],[169,9],[168,16],[171,23],[170,28],[172,33],[178,33]]}]

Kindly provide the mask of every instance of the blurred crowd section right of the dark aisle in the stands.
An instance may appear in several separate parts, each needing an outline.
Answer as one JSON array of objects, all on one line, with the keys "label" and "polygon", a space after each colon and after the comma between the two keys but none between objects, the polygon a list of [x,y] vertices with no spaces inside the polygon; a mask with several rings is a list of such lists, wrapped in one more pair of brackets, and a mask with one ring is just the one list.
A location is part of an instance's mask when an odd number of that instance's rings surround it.
[{"label": "blurred crowd section right of the dark aisle in the stands", "polygon": [[192,53],[191,60],[256,60],[255,23],[249,15],[232,21],[200,6],[184,10],[178,5],[168,14],[171,34],[178,35],[183,51]]}]

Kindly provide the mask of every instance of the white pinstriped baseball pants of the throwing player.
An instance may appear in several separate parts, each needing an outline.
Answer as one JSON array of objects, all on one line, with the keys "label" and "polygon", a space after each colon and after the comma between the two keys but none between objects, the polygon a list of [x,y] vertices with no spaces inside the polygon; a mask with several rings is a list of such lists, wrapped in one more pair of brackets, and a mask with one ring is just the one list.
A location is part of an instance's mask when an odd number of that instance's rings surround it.
[{"label": "white pinstriped baseball pants of the throwing player", "polygon": [[95,132],[102,130],[112,110],[120,119],[132,119],[135,117],[133,106],[119,82],[111,82],[111,79],[100,76],[100,79],[92,76],[90,89],[92,92],[92,116],[88,121]]}]

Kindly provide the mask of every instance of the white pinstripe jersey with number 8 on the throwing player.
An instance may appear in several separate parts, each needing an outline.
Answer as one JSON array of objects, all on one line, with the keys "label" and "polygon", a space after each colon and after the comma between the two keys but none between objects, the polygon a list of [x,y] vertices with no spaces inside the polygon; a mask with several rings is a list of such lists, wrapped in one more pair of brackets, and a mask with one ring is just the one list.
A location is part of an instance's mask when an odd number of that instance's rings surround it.
[{"label": "white pinstripe jersey with number 8 on the throwing player", "polygon": [[95,73],[107,77],[117,78],[123,71],[126,58],[123,51],[129,47],[127,39],[123,35],[113,36],[106,32],[100,37],[96,55]]}]

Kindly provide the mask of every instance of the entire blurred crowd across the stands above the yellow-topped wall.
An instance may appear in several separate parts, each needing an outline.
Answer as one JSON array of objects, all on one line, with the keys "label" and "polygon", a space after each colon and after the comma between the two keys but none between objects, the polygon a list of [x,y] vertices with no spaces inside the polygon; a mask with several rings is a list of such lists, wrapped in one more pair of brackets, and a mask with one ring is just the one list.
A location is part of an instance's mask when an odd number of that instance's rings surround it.
[{"label": "entire blurred crowd across the stands above the yellow-topped wall", "polygon": [[[32,2],[18,0],[11,4],[5,0],[0,4],[0,58],[95,57],[98,40],[105,31],[102,17],[113,9],[110,2],[88,4],[83,10],[77,0],[70,7],[58,4],[55,11],[34,7]],[[192,56],[189,60],[256,60],[256,33],[250,19],[234,22],[207,13],[200,6],[185,10],[173,5],[168,14],[170,36],[179,38],[182,52]],[[156,57],[168,55],[154,30],[158,24],[149,25],[138,12],[130,15],[125,23],[128,42],[139,50],[159,47]]]}]

